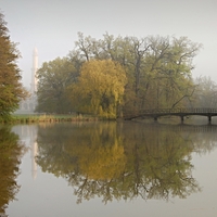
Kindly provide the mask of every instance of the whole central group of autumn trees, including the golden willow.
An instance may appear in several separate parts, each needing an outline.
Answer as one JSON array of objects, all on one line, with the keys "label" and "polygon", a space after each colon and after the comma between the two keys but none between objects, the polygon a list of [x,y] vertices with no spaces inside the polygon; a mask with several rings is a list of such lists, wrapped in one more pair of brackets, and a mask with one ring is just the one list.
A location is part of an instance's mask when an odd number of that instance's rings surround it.
[{"label": "whole central group of autumn trees, including the golden willow", "polygon": [[94,39],[78,33],[67,56],[39,68],[36,111],[116,118],[138,110],[199,105],[204,78],[194,81],[192,69],[201,47],[187,37],[106,33]]}]

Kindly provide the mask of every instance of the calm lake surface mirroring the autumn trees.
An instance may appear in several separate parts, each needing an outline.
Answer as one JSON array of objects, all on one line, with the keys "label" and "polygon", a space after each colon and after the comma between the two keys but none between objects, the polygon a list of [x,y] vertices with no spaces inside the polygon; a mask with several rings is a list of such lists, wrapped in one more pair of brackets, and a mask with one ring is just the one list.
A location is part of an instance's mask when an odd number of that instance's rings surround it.
[{"label": "calm lake surface mirroring the autumn trees", "polygon": [[9,217],[217,216],[215,125],[63,123],[0,130],[0,144],[13,150],[1,149],[0,164],[8,180],[0,207]]}]

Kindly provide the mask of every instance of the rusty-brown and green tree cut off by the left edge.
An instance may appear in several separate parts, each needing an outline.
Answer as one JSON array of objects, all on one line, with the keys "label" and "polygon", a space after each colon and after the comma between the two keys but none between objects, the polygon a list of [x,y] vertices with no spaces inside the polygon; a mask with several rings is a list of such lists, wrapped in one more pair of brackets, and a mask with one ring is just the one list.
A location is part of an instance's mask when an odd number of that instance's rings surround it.
[{"label": "rusty-brown and green tree cut off by the left edge", "polygon": [[15,46],[0,13],[0,119],[9,118],[27,95],[21,82],[21,71],[16,64],[21,55]]}]

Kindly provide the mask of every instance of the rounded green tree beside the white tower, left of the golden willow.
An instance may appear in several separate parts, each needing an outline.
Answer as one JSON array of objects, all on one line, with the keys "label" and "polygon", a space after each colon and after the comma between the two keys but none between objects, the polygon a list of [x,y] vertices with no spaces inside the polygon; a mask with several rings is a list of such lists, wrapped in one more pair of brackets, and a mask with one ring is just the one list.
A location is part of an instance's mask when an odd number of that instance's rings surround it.
[{"label": "rounded green tree beside the white tower, left of the golden willow", "polygon": [[43,63],[38,69],[38,105],[37,112],[68,113],[72,104],[67,95],[67,87],[75,82],[78,72],[67,59],[55,59]]}]

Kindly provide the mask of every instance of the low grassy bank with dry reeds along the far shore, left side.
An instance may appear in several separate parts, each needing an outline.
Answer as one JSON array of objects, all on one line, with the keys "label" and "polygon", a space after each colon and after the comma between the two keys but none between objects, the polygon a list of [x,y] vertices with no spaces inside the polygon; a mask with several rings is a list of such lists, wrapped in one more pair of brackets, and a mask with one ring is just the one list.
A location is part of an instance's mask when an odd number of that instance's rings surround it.
[{"label": "low grassy bank with dry reeds along the far shore, left side", "polygon": [[9,120],[0,123],[59,123],[59,122],[97,122],[98,117],[89,115],[47,115],[47,114],[13,114]]}]

